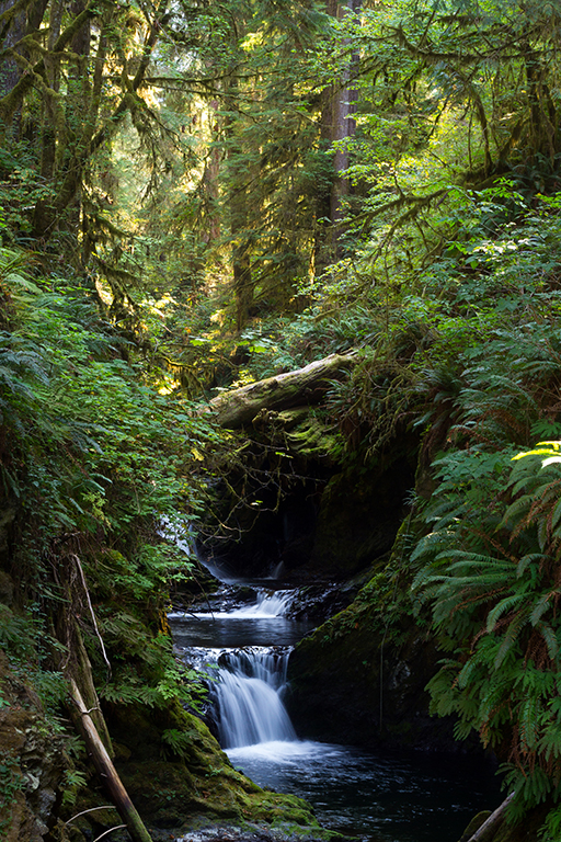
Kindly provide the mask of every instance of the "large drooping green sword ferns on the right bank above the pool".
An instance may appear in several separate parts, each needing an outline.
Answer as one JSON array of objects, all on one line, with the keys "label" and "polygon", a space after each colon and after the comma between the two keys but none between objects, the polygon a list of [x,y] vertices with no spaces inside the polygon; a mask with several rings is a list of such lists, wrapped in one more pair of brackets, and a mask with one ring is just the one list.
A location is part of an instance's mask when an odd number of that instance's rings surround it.
[{"label": "large drooping green sword ferns on the right bank above the pool", "polygon": [[[483,462],[470,454],[459,463],[463,473],[457,459],[440,460],[447,473],[437,497],[447,497],[448,511],[427,510],[432,532],[412,555],[422,564],[413,592],[454,652],[430,683],[433,709],[458,715],[458,737],[474,728],[493,746],[518,812],[561,795],[558,448],[514,457],[506,476],[504,454]],[[542,467],[548,455],[556,462]]]}]

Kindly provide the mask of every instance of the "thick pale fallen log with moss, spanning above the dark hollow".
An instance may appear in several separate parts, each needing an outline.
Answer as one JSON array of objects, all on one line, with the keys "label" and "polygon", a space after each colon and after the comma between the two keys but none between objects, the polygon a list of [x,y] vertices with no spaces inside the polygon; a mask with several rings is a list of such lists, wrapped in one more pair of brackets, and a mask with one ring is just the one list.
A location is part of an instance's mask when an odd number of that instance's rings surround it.
[{"label": "thick pale fallen log with moss, spanning above the dark hollow", "polygon": [[249,424],[264,411],[311,406],[325,395],[332,380],[341,379],[359,361],[356,353],[331,354],[295,372],[277,374],[210,400],[218,423],[228,429]]}]

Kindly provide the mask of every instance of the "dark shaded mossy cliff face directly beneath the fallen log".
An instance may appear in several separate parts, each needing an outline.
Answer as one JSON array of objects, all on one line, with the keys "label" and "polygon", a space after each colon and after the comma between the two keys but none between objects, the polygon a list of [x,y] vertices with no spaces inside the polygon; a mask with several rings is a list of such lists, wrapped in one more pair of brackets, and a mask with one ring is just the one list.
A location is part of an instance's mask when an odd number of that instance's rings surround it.
[{"label": "dark shaded mossy cliff face directly beneath the fallen log", "polygon": [[335,448],[329,429],[316,419],[286,436],[270,426],[251,435],[245,463],[229,474],[230,491],[222,499],[222,521],[228,508],[236,512],[230,532],[236,541],[209,541],[204,555],[224,559],[238,576],[267,574],[282,564],[293,581],[341,581],[391,549],[414,487],[415,436],[402,436],[365,466],[343,465],[341,442]]}]

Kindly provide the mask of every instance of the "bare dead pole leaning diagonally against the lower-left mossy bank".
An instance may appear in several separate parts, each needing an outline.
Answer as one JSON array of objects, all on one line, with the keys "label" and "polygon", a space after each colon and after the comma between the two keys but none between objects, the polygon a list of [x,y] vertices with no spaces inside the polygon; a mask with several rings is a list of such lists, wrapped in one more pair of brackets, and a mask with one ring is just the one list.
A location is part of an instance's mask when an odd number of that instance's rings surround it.
[{"label": "bare dead pole leaning diagonally against the lower-left mossy bank", "polygon": [[85,744],[90,754],[92,755],[93,764],[98,770],[100,777],[102,778],[105,787],[113,798],[115,807],[125,824],[134,842],[152,842],[150,834],[148,833],[142,819],[138,815],[136,807],[130,800],[127,790],[123,786],[123,783],[117,775],[116,769],[113,765],[105,746],[100,739],[98,729],[93,724],[93,719],[88,713],[81,693],[78,690],[78,684],[73,679],[70,679],[70,691],[72,699],[78,708],[80,715],[80,725]]}]

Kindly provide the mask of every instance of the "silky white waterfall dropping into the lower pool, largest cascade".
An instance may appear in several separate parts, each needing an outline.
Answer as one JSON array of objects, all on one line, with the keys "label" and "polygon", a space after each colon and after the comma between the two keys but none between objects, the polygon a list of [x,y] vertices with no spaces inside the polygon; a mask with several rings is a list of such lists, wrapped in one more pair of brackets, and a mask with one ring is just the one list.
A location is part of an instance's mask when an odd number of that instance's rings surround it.
[{"label": "silky white waterfall dropping into the lower pool, largest cascade", "polygon": [[214,692],[222,748],[296,740],[282,702],[288,652],[253,647],[225,652],[219,662]]}]

